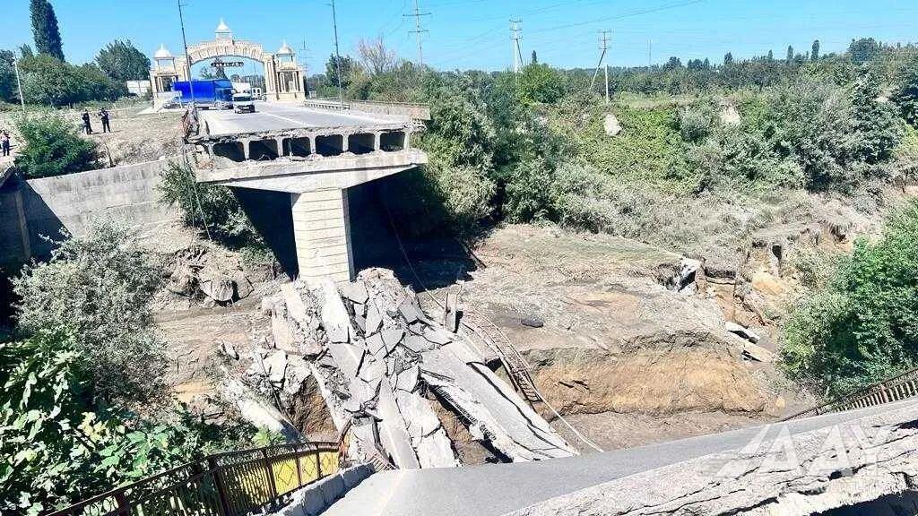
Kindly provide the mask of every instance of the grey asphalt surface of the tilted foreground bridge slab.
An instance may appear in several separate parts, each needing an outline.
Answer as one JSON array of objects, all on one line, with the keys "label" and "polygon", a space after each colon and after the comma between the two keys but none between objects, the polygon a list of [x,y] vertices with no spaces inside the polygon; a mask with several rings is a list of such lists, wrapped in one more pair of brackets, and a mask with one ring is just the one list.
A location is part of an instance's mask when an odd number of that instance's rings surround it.
[{"label": "grey asphalt surface of the tilted foreground bridge slab", "polygon": [[[790,434],[812,432],[914,404],[918,404],[918,399],[767,425],[765,439],[774,439],[784,426]],[[708,454],[738,450],[764,428],[758,426],[541,462],[386,471],[364,480],[323,515],[499,516],[617,478]]]}]

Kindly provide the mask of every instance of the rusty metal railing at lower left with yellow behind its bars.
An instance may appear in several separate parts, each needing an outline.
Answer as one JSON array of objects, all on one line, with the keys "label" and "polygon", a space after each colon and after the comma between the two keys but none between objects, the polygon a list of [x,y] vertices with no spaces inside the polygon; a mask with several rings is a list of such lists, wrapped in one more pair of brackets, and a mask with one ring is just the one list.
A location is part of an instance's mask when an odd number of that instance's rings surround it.
[{"label": "rusty metal railing at lower left with yellow behind its bars", "polygon": [[244,516],[338,471],[338,443],[213,454],[46,516]]}]

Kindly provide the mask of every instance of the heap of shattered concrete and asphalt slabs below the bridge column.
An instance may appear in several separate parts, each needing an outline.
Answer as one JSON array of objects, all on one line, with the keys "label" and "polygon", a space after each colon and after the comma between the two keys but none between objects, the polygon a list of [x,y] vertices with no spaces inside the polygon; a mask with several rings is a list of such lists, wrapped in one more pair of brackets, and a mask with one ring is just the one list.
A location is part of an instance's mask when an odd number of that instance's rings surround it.
[{"label": "heap of shattered concrete and asphalt slabs below the bridge column", "polygon": [[[300,280],[264,299],[263,309],[277,351],[250,374],[287,394],[313,376],[335,426],[350,429],[354,460],[382,454],[399,468],[459,466],[429,394],[510,460],[576,454],[390,271],[368,269],[339,286]],[[295,355],[303,359],[289,360]]]}]

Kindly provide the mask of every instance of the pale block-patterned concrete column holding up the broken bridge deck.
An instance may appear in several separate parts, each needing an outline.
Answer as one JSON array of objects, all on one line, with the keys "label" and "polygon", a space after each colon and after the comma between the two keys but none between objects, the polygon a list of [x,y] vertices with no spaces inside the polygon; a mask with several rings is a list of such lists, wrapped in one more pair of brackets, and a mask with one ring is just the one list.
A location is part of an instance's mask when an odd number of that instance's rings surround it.
[{"label": "pale block-patterned concrete column holding up the broken bridge deck", "polygon": [[347,194],[341,189],[290,195],[299,277],[353,277]]}]

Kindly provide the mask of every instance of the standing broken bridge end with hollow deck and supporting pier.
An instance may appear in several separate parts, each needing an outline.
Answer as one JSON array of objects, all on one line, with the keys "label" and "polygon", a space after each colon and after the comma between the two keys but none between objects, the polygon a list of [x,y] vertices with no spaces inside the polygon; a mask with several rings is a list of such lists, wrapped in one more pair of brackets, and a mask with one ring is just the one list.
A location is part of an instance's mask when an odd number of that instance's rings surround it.
[{"label": "standing broken bridge end with hollow deck and supporting pier", "polygon": [[[408,117],[259,104],[252,114],[201,111],[186,137],[196,180],[226,185],[291,277],[348,281],[356,272],[358,186],[427,163]],[[286,249],[287,247],[292,249]]]}]

